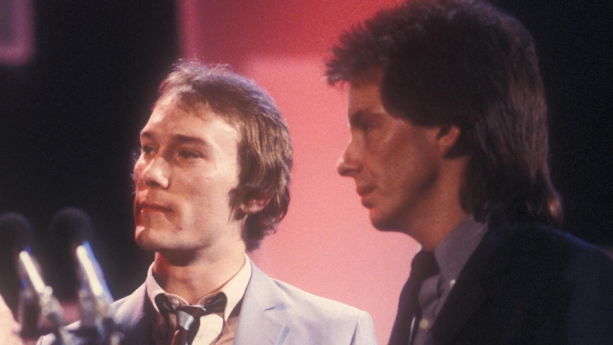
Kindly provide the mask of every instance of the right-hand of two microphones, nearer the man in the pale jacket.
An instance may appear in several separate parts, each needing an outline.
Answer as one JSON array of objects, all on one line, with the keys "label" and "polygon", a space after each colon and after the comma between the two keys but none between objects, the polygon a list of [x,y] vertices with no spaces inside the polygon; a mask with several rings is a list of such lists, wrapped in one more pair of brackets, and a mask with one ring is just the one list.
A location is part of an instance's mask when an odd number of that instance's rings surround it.
[{"label": "right-hand of two microphones, nearer the man in the pale jacket", "polygon": [[81,309],[80,335],[94,338],[96,343],[118,344],[115,322],[109,313],[113,297],[109,292],[102,269],[94,257],[89,239],[92,225],[85,212],[67,207],[56,212],[51,220],[53,233],[66,234],[74,249],[77,276],[80,281],[78,299]]}]

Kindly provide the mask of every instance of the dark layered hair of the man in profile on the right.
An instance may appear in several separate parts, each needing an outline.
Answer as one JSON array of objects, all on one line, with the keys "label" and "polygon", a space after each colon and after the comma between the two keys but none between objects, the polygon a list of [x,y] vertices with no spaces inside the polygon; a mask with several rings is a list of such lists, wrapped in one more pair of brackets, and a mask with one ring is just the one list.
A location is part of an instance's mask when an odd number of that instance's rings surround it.
[{"label": "dark layered hair of the man in profile on the right", "polygon": [[535,45],[511,15],[480,0],[410,0],[343,34],[326,65],[331,85],[382,72],[392,114],[459,126],[470,155],[462,202],[476,218],[562,223]]}]

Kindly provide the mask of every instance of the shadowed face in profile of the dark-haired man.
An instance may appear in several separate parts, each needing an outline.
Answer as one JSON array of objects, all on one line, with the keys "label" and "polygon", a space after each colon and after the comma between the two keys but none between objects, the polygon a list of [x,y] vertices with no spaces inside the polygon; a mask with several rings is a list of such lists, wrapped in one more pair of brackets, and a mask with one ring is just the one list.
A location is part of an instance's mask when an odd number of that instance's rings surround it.
[{"label": "shadowed face in profile of the dark-haired man", "polygon": [[381,100],[381,78],[381,72],[364,74],[349,85],[351,136],[337,169],[355,180],[375,228],[406,232],[424,207],[432,207],[439,130],[390,114]]}]

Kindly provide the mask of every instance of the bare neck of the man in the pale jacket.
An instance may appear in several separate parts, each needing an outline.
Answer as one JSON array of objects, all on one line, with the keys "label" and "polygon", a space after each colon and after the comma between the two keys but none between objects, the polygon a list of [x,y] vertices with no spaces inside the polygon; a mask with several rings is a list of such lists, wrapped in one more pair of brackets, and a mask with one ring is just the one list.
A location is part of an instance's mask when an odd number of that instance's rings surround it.
[{"label": "bare neck of the man in the pale jacket", "polygon": [[207,248],[197,254],[156,252],[153,275],[168,293],[196,304],[215,293],[245,265],[245,244]]}]

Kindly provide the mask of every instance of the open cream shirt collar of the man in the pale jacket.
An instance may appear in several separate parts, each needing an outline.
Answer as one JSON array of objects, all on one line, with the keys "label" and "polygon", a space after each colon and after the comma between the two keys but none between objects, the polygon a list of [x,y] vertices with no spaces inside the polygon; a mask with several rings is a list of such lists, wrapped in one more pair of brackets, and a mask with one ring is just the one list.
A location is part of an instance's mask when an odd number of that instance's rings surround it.
[{"label": "open cream shirt collar of the man in the pale jacket", "polygon": [[[212,295],[216,295],[219,292],[223,292],[226,295],[227,302],[226,308],[224,309],[224,321],[227,322],[230,313],[237,306],[238,302],[242,300],[243,295],[245,295],[245,290],[247,289],[247,284],[249,283],[249,279],[251,278],[251,260],[245,254],[245,263],[243,267],[238,270],[234,277],[230,278],[229,281],[224,284],[218,292],[212,293],[210,295],[206,295],[202,297],[199,303],[203,303],[208,297]],[[155,298],[158,295],[165,295],[169,300],[175,300],[181,306],[188,306],[189,303],[178,295],[173,295],[172,293],[167,293],[162,287],[158,284],[158,282],[153,277],[153,263],[149,266],[147,271],[147,297],[151,301],[153,308],[156,310],[156,314],[161,316],[158,305],[155,303]]]}]

